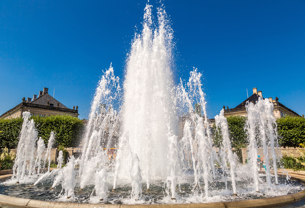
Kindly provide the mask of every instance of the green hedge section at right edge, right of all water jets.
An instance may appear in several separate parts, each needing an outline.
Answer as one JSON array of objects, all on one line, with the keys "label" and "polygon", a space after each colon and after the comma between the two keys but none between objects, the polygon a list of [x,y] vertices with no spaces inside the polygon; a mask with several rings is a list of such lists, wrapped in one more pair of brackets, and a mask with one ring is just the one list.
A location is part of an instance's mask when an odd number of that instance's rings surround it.
[{"label": "green hedge section at right edge, right of all water jets", "polygon": [[305,143],[305,118],[281,117],[277,124],[280,146],[299,147]]}]

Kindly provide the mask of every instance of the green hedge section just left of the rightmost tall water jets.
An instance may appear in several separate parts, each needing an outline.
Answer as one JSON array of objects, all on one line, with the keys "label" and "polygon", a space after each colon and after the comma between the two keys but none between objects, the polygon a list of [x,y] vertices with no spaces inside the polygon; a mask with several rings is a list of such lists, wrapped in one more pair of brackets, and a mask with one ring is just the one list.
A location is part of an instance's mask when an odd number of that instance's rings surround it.
[{"label": "green hedge section just left of the rightmost tall water jets", "polygon": [[[229,137],[233,148],[239,150],[248,145],[247,132],[245,131],[246,117],[245,116],[230,116],[227,117]],[[217,147],[222,146],[222,134],[217,130],[216,125],[213,126],[214,130],[214,144]]]}]

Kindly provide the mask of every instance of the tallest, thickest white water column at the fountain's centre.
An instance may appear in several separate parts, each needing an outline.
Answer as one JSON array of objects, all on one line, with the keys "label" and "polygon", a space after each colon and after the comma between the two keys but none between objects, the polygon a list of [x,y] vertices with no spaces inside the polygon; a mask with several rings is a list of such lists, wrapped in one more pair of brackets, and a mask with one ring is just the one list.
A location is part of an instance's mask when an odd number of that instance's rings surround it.
[{"label": "tallest, thickest white water column at the fountain's centre", "polygon": [[118,157],[127,157],[117,165],[118,177],[125,177],[132,160],[127,151],[136,153],[147,189],[151,181],[168,176],[167,138],[175,135],[171,42],[165,11],[158,10],[158,26],[154,29],[151,6],[146,5],[142,32],[133,40],[128,57],[121,112],[122,132],[128,137],[119,138],[128,148],[119,145]]}]

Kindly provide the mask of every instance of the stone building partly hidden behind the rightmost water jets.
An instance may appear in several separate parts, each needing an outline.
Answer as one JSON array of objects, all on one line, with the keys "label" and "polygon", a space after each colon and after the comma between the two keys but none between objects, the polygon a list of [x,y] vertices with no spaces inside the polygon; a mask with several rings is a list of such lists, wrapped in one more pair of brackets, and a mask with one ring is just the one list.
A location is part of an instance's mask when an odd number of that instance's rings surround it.
[{"label": "stone building partly hidden behind the rightmost water jets", "polygon": [[[249,98],[247,98],[245,101],[243,101],[242,103],[237,105],[235,108],[229,108],[227,106],[227,109],[226,109],[226,107],[223,106],[223,108],[225,109],[224,116],[229,117],[231,115],[247,115],[246,103],[247,102],[256,103],[258,101],[259,97],[263,98],[262,91],[257,91],[256,87],[253,88],[253,94]],[[283,117],[286,115],[300,116],[299,114],[297,114],[290,108],[288,108],[285,105],[283,105],[282,103],[280,103],[278,97],[276,97],[276,99],[274,99],[274,100],[271,97],[268,99],[271,103],[273,103],[273,106],[274,106],[273,115],[276,118],[280,118],[280,117]]]}]

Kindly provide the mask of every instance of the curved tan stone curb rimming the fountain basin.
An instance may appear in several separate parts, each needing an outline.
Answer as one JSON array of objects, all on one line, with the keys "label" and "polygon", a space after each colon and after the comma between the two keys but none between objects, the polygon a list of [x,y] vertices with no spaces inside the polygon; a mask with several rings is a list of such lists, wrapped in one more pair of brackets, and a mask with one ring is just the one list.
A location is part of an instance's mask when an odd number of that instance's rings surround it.
[{"label": "curved tan stone curb rimming the fountain basin", "polygon": [[[6,175],[3,179],[7,179],[10,175]],[[292,180],[304,183],[295,177]],[[201,207],[270,207],[285,203],[295,202],[305,198],[305,190],[294,194],[276,196],[264,199],[252,199],[244,201],[228,201],[228,202],[214,202],[214,203],[192,203],[192,204],[90,204],[90,203],[69,203],[69,202],[53,202],[53,201],[40,201],[35,199],[24,199],[13,196],[0,194],[0,206],[8,207],[28,207],[28,208],[201,208]]]}]

